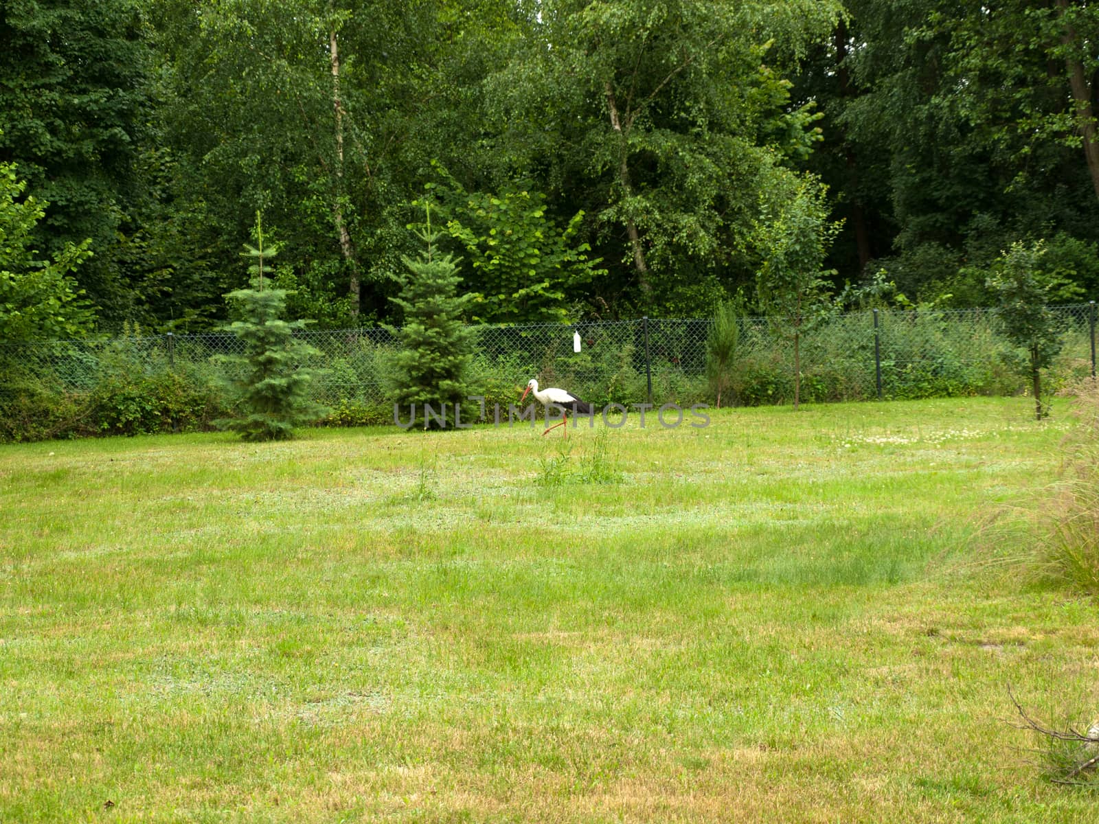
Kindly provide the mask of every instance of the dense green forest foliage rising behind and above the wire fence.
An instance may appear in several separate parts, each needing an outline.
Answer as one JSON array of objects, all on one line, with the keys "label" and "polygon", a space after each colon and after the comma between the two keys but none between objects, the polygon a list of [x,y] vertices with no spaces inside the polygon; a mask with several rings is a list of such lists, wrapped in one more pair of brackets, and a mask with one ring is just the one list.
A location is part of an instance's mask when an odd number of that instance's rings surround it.
[{"label": "dense green forest foliage rising behind and above the wire fence", "polygon": [[1084,0],[10,0],[4,197],[41,215],[5,288],[215,329],[263,210],[291,314],[392,323],[426,193],[466,320],[751,312],[789,297],[768,214],[819,190],[824,293],[995,305],[1044,241],[1094,297],[1097,40]]}]

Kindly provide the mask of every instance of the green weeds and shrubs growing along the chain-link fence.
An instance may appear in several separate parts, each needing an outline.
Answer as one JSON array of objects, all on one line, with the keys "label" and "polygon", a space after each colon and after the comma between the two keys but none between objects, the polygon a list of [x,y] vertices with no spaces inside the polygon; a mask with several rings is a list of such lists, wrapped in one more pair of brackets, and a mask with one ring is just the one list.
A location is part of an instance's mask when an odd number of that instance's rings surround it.
[{"label": "green weeds and shrubs growing along the chain-link fence", "polygon": [[[1045,378],[1095,372],[1095,303],[1053,308],[1063,348]],[[709,320],[476,326],[470,393],[503,409],[531,377],[596,404],[712,403],[706,377]],[[580,350],[574,350],[574,333]],[[746,318],[731,369],[732,403],[793,398],[793,330]],[[324,423],[392,422],[397,341],[384,329],[308,331],[319,352],[314,399]],[[852,312],[799,334],[807,402],[915,399],[1026,391],[1025,353],[999,332],[995,310]],[[209,428],[227,410],[230,334],[0,344],[0,441]],[[491,414],[491,413],[490,413]]]}]

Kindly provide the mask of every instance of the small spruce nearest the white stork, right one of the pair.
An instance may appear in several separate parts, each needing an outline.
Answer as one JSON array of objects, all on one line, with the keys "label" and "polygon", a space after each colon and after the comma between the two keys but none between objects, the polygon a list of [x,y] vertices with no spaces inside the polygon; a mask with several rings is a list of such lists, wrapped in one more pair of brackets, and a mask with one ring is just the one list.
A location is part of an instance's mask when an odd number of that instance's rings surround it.
[{"label": "small spruce nearest the white stork, right one of the pair", "polygon": [[[435,246],[440,234],[431,226],[431,208],[425,208],[426,223],[413,229],[424,243],[419,259],[403,257],[408,271],[397,278],[401,292],[390,298],[404,311],[404,325],[390,329],[401,343],[393,359],[393,398],[401,405],[431,404],[443,413],[445,426],[455,423],[455,408],[466,400],[466,374],[473,355],[474,332],[463,315],[473,296],[457,294],[462,281],[457,261],[440,255]],[[440,427],[435,417],[424,428]]]}]

